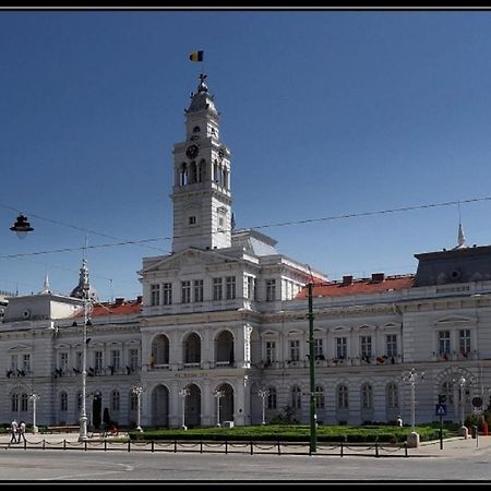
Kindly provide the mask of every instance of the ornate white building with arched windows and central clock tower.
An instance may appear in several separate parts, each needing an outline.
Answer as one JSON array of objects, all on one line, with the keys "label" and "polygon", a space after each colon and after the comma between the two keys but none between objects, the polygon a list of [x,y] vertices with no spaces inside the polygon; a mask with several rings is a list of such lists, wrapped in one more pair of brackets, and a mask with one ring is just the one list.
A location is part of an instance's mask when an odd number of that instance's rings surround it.
[{"label": "ornate white building with arched windows and central clock tower", "polygon": [[[278,252],[274,239],[235,229],[231,170],[201,75],[185,139],[173,149],[172,252],[143,259],[142,298],[105,306],[94,299],[91,423],[107,408],[118,424],[134,426],[136,384],[144,427],[260,423],[263,403],[266,421],[288,407],[308,422],[311,280],[318,421],[431,421],[442,400],[444,419],[459,421],[478,398],[488,406],[491,247],[459,240],[455,249],[417,254],[416,275],[330,282]],[[84,264],[80,286],[86,278]],[[31,421],[29,394],[37,393],[39,424],[77,423],[80,286],[67,297],[46,287],[9,297],[0,325],[0,420]],[[412,386],[403,376],[411,369]]]}]

